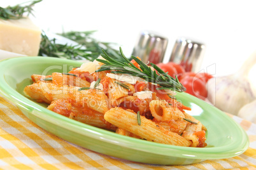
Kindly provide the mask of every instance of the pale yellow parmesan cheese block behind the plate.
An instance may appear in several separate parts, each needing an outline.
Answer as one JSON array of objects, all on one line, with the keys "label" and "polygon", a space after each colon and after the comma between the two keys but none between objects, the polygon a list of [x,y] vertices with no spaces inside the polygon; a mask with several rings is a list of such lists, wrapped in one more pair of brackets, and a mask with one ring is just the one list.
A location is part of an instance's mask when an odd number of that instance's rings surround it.
[{"label": "pale yellow parmesan cheese block behind the plate", "polygon": [[27,56],[38,56],[41,29],[29,18],[0,19],[0,49]]}]

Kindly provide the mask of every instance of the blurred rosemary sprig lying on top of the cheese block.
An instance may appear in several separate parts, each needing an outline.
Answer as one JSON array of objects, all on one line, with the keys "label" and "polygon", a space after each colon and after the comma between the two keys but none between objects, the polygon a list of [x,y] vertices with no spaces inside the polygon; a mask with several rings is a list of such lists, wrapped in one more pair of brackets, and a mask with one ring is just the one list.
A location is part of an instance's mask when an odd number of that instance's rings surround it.
[{"label": "blurred rosemary sprig lying on top of the cheese block", "polygon": [[27,6],[21,6],[17,4],[15,6],[7,6],[6,8],[0,7],[0,18],[3,20],[18,20],[24,17],[24,14],[27,13],[27,16],[32,14],[32,6],[34,4],[41,2],[42,0],[32,1],[31,4]]}]

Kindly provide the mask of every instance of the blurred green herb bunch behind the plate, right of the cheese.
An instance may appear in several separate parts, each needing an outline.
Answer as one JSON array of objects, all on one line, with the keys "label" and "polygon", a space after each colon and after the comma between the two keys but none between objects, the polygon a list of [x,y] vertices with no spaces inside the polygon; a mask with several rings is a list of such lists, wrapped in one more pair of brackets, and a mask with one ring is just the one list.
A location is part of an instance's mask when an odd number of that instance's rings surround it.
[{"label": "blurred green herb bunch behind the plate, right of the cheese", "polygon": [[45,32],[41,34],[41,43],[39,56],[53,56],[57,58],[66,58],[70,60],[89,60],[94,61],[102,53],[102,49],[108,51],[113,58],[122,60],[120,54],[115,48],[111,47],[110,42],[100,42],[92,38],[92,33],[95,31],[85,32],[66,32],[59,34],[78,43],[78,45],[59,44],[56,39],[49,39]]}]

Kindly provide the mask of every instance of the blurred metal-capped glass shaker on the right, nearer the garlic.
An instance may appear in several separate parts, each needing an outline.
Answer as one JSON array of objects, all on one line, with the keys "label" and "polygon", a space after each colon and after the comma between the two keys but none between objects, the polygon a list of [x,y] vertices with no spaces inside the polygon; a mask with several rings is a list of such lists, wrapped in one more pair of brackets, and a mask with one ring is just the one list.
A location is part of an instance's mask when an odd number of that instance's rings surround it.
[{"label": "blurred metal-capped glass shaker on the right, nearer the garlic", "polygon": [[206,46],[185,37],[176,40],[169,62],[179,63],[186,72],[198,72],[203,62]]}]

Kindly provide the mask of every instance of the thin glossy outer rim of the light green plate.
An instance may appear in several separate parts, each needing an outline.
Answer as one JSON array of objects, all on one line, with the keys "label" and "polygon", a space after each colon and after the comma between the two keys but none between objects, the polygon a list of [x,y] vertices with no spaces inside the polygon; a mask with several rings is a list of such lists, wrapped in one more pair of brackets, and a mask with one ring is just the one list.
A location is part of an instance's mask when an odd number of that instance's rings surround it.
[{"label": "thin glossy outer rim of the light green plate", "polygon": [[[39,60],[39,59],[43,59],[43,58],[45,60],[56,60],[56,61],[58,60],[58,62],[61,62],[61,63],[63,63],[64,61],[70,62],[70,63],[73,62],[74,64],[81,63],[81,62],[77,62],[77,61],[73,61],[73,60],[66,60],[66,59],[61,59],[61,58],[51,58],[51,57],[43,57],[43,56],[32,57],[32,59],[35,59],[35,60]],[[10,61],[13,61],[13,60],[27,60],[27,59],[31,59],[31,56],[7,58],[7,59],[4,59],[4,60],[0,61],[0,66],[3,65],[3,62],[8,62],[8,61],[10,62]],[[2,72],[0,72],[0,80],[1,79],[3,79]],[[8,84],[7,84],[8,88],[3,89],[3,84],[4,83],[3,83],[3,81],[1,81],[1,82],[2,83],[0,84],[0,93],[3,96],[5,96],[6,98],[8,98],[8,100],[15,103],[15,105],[23,107],[23,108],[27,109],[29,112],[33,112],[33,110],[36,110],[34,112],[44,112],[47,116],[54,117],[54,119],[57,119],[59,121],[63,121],[63,122],[66,122],[66,123],[68,122],[68,124],[74,124],[75,126],[79,126],[79,127],[82,127],[82,128],[87,128],[87,129],[96,131],[97,133],[103,133],[104,135],[107,135],[110,138],[118,139],[120,141],[126,141],[126,142],[124,142],[124,145],[120,145],[122,147],[127,147],[127,145],[126,145],[127,143],[136,143],[136,144],[139,143],[141,145],[146,144],[146,145],[150,145],[151,147],[164,148],[164,149],[167,149],[167,150],[171,150],[173,152],[186,151],[190,154],[191,153],[196,153],[195,157],[186,156],[184,154],[177,154],[177,153],[174,154],[174,155],[171,155],[171,154],[167,154],[166,152],[162,153],[162,154],[159,153],[160,155],[169,156],[169,157],[179,157],[179,158],[185,158],[185,159],[193,159],[194,158],[194,159],[204,159],[205,160],[205,159],[224,159],[224,158],[234,157],[236,155],[239,155],[239,154],[242,154],[243,152],[245,152],[245,150],[249,146],[248,135],[245,133],[245,130],[243,128],[241,128],[241,126],[239,126],[239,124],[237,122],[235,122],[233,119],[231,119],[231,117],[226,115],[221,110],[218,110],[218,108],[216,108],[216,107],[212,107],[212,108],[217,110],[218,113],[222,113],[220,115],[222,115],[225,119],[227,119],[227,120],[231,121],[233,124],[235,124],[235,126],[237,126],[237,128],[240,130],[239,133],[243,134],[243,136],[246,137],[246,140],[243,141],[243,146],[239,146],[240,148],[234,148],[233,150],[229,150],[227,148],[227,146],[218,147],[218,150],[222,150],[222,153],[221,154],[220,153],[216,154],[216,150],[217,150],[216,147],[206,147],[206,148],[179,147],[179,146],[174,146],[174,145],[166,145],[166,144],[162,144],[162,143],[154,143],[154,142],[151,142],[151,141],[138,140],[136,138],[131,138],[129,136],[122,136],[120,134],[115,134],[113,132],[106,131],[104,129],[100,129],[100,128],[96,128],[94,126],[83,124],[82,122],[78,122],[78,121],[69,119],[68,117],[64,117],[62,115],[56,114],[55,112],[52,112],[51,110],[48,110],[45,107],[42,107],[41,105],[38,105],[38,103],[36,103],[32,100],[29,100],[29,98],[27,98],[24,95],[18,93],[18,91],[11,88],[11,86],[9,86]],[[22,100],[18,100],[19,98],[15,98],[15,96],[8,95],[8,92],[11,92],[11,91],[13,93],[15,93],[15,95],[18,95],[18,97],[21,97]],[[186,97],[192,98],[193,100],[195,100],[195,99],[199,100],[199,99],[195,98],[194,96],[188,95],[187,93],[184,93],[182,95],[186,95]],[[34,104],[36,104],[36,107],[33,107]],[[206,103],[206,104],[209,105],[208,103]],[[110,141],[108,141],[108,142],[110,142]],[[122,142],[119,142],[119,143],[122,143]],[[241,143],[241,145],[242,145],[242,143]],[[141,150],[141,151],[148,152],[148,150]],[[223,152],[223,151],[225,151],[225,152]],[[198,152],[201,152],[202,155],[201,154],[198,155]],[[233,153],[232,156],[230,155],[231,152]],[[148,152],[148,153],[152,153],[152,152]]]}]

